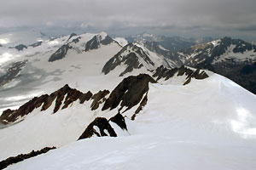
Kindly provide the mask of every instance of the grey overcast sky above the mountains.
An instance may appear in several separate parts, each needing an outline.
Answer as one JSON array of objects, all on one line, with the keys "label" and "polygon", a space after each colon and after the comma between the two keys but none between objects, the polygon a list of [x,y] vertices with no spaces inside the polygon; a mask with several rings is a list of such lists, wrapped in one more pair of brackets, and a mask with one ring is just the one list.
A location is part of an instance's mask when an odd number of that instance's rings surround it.
[{"label": "grey overcast sky above the mountains", "polygon": [[0,31],[22,27],[256,39],[256,0],[1,0]]}]

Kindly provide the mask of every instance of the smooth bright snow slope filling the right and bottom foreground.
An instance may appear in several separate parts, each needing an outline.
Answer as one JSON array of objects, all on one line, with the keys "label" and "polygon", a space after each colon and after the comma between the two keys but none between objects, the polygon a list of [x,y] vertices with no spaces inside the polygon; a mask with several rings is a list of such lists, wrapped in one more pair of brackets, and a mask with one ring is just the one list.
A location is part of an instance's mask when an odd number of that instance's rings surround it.
[{"label": "smooth bright snow slope filling the right and bottom foreground", "polygon": [[150,84],[143,111],[126,119],[130,136],[83,139],[6,169],[253,170],[256,97],[207,73],[186,86]]}]

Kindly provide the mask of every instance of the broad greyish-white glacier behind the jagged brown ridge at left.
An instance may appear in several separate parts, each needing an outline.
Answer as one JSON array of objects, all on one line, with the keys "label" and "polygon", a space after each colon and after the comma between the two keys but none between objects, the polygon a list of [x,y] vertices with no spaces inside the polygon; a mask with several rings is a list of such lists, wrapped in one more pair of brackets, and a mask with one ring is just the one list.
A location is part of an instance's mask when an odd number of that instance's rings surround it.
[{"label": "broad greyish-white glacier behind the jagged brown ridge at left", "polygon": [[[69,36],[59,37],[43,42],[36,48],[28,47],[20,52],[15,48],[0,48],[3,54],[6,54],[0,55],[0,63],[3,61],[0,65],[2,73],[10,64],[28,60],[19,77],[0,88],[0,111],[16,108],[34,96],[51,93],[67,83],[83,91],[97,92],[102,89],[102,81],[108,79],[98,78],[102,75],[102,67],[121,47],[113,42],[99,49],[83,52],[85,43],[94,36],[96,34],[85,33],[70,39]],[[78,43],[72,42],[78,37]],[[49,62],[51,54],[65,43],[69,43],[73,49],[67,52],[64,59]],[[115,85],[110,86],[114,88]]]}]

